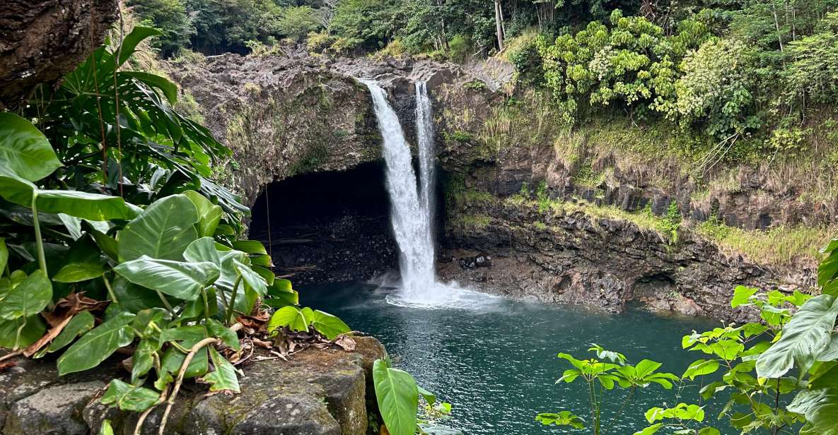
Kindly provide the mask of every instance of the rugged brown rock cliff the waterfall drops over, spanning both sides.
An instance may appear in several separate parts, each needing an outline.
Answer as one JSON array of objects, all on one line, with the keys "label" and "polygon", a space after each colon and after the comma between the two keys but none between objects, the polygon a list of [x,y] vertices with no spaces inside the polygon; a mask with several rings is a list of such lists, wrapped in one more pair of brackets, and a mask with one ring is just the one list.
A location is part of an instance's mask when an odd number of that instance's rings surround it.
[{"label": "rugged brown rock cliff the waterfall drops over, spanning both sides", "polygon": [[[597,208],[590,207],[661,216],[675,203],[685,228],[717,217],[732,227],[757,230],[831,223],[838,208],[835,198],[804,199],[799,194],[804,177],[781,177],[784,169],[776,167],[719,164],[702,167],[696,177],[675,153],[639,152],[635,142],[662,141],[654,145],[666,150],[665,141],[675,139],[628,120],[567,130],[545,96],[511,87],[509,66],[500,62],[463,68],[427,60],[319,59],[297,52],[225,55],[175,67],[173,76],[194,95],[209,127],[235,150],[230,180],[250,203],[271,182],[380,165],[370,97],[354,78],[374,78],[388,90],[409,140],[415,137],[413,83],[427,80],[445,178],[491,197],[478,210],[446,201],[440,269],[447,279],[489,291],[610,310],[641,300],[658,309],[735,318],[725,308],[733,286],[805,288],[813,282],[813,261],[796,258],[782,268],[754,264],[689,230],[671,243],[660,232],[592,213]],[[551,201],[585,207],[546,216],[508,201],[522,187],[537,185]],[[381,216],[379,211],[376,228],[384,226]],[[475,224],[474,216],[481,222]],[[338,217],[308,230],[334,233]],[[354,253],[337,260],[304,243],[286,247],[294,258],[280,268],[306,270],[300,275],[304,282],[368,279],[395,266],[392,249],[380,247],[392,238],[366,243],[369,239],[350,236],[346,240],[354,243]],[[385,261],[359,261],[382,255]],[[493,260],[486,268],[461,265],[487,255]],[[375,267],[333,273],[360,263]]]}]

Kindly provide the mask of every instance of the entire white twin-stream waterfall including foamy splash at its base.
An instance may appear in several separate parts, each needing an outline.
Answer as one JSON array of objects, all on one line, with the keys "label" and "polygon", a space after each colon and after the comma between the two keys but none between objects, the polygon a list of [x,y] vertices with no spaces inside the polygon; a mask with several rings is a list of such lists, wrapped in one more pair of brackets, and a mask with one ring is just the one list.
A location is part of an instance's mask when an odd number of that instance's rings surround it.
[{"label": "entire white twin-stream waterfall including foamy splash at its base", "polygon": [[391,225],[401,251],[401,292],[388,300],[411,306],[472,306],[463,296],[474,292],[456,284],[437,282],[434,269],[433,210],[434,164],[433,120],[427,84],[416,84],[416,142],[419,179],[411,164],[411,149],[399,118],[387,101],[385,90],[371,80],[360,80],[370,89],[378,129],[384,140],[387,192],[391,201]]}]

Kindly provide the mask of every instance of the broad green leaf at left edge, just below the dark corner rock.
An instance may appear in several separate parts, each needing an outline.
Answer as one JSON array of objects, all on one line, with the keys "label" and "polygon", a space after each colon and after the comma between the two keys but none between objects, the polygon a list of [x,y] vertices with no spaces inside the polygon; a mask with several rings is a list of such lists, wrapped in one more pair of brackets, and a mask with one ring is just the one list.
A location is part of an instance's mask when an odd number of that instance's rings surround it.
[{"label": "broad green leaf at left edge, just below the dark corner rock", "polygon": [[36,182],[62,165],[37,127],[18,115],[4,112],[0,113],[0,166]]}]

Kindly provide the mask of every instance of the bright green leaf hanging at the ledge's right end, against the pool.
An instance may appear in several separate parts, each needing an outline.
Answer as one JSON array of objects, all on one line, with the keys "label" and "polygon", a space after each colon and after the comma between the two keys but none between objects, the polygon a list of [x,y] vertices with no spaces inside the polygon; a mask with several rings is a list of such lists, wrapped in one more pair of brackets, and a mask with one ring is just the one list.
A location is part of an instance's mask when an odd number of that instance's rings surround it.
[{"label": "bright green leaf hanging at the ledge's right end, against the pool", "polygon": [[392,435],[413,435],[419,407],[419,388],[413,376],[392,368],[386,360],[375,360],[372,376],[375,399],[387,430]]}]

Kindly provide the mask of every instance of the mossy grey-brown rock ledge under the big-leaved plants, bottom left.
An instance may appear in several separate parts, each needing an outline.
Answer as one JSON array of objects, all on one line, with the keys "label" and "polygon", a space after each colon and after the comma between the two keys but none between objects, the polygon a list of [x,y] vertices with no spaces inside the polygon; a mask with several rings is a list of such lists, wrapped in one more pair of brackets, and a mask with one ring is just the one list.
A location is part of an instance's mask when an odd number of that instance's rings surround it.
[{"label": "mossy grey-brown rock ledge under the big-leaved plants, bottom left", "polygon": [[[184,383],[169,416],[171,434],[364,435],[377,421],[372,364],[385,356],[372,337],[354,337],[356,349],[308,348],[283,361],[256,351],[239,366],[241,394],[207,395]],[[260,358],[261,357],[261,358]],[[4,435],[85,435],[110,419],[116,433],[131,434],[137,413],[106,407],[106,383],[124,376],[119,361],[59,377],[54,361],[19,358],[0,373],[0,432]],[[157,433],[156,409],[143,433]]]}]

